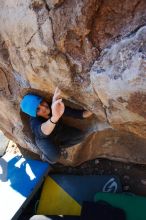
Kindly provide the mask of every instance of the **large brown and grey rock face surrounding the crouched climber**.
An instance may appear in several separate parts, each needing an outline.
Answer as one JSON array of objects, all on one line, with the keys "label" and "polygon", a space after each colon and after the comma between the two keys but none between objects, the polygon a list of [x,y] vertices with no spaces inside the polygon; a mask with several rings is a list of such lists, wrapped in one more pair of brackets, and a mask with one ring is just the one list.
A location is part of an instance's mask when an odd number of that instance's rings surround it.
[{"label": "large brown and grey rock face surrounding the crouched climber", "polygon": [[0,27],[0,128],[9,138],[39,153],[19,103],[59,86],[67,105],[94,113],[67,120],[94,133],[62,163],[146,163],[145,0],[1,0]]}]

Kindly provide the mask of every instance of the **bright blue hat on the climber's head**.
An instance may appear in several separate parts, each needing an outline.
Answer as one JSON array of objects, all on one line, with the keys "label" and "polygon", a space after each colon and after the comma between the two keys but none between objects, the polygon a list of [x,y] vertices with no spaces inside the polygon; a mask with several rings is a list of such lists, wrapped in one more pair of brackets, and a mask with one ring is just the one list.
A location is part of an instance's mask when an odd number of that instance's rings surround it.
[{"label": "bright blue hat on the climber's head", "polygon": [[36,117],[37,107],[42,102],[43,98],[38,95],[27,94],[23,97],[20,103],[20,108],[26,114]]}]

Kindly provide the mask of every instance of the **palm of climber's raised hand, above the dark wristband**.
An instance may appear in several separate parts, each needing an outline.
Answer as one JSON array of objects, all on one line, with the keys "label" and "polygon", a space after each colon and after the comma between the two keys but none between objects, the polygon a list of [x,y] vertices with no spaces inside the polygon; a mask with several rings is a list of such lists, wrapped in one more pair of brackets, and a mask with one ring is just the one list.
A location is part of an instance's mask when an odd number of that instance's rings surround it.
[{"label": "palm of climber's raised hand, above the dark wristband", "polygon": [[54,101],[52,103],[51,109],[52,109],[52,119],[54,122],[57,122],[59,118],[61,118],[65,110],[65,106],[64,103],[62,102],[62,99],[58,99]]}]

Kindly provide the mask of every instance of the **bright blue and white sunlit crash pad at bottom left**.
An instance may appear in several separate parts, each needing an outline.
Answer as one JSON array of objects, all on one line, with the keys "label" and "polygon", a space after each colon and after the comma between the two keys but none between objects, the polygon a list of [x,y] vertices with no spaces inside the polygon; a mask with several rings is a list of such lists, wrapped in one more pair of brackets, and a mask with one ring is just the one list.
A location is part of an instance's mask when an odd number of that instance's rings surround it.
[{"label": "bright blue and white sunlit crash pad at bottom left", "polygon": [[46,162],[10,154],[0,158],[0,219],[17,219],[48,171]]}]

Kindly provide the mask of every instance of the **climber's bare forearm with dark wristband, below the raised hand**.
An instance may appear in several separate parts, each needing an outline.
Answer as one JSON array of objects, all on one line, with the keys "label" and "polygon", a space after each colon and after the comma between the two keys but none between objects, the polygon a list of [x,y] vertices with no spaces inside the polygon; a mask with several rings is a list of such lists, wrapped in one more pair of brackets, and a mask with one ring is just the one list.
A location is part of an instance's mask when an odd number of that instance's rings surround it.
[{"label": "climber's bare forearm with dark wristband, below the raised hand", "polygon": [[57,123],[57,119],[55,119],[53,116],[51,117],[51,121],[50,121],[50,119],[48,119],[48,121],[44,122],[41,125],[41,130],[45,135],[51,134],[52,131],[54,130],[56,124],[54,124],[52,122]]}]

